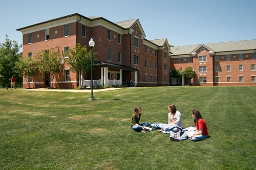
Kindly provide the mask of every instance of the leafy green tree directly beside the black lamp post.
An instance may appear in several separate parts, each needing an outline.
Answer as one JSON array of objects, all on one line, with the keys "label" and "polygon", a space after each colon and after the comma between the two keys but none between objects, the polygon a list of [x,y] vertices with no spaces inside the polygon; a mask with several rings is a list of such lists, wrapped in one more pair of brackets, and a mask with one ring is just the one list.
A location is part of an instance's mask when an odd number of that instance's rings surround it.
[{"label": "leafy green tree directly beside the black lamp post", "polygon": [[[81,82],[81,87],[84,88],[84,77],[86,77],[87,72],[91,71],[91,51],[87,53],[87,47],[81,46],[80,43],[76,44],[73,49],[69,50],[70,53],[65,55],[69,57],[67,63],[70,65],[70,70],[72,72],[77,72],[79,81]],[[95,54],[93,53],[93,61]],[[93,62],[93,66],[96,64]]]}]

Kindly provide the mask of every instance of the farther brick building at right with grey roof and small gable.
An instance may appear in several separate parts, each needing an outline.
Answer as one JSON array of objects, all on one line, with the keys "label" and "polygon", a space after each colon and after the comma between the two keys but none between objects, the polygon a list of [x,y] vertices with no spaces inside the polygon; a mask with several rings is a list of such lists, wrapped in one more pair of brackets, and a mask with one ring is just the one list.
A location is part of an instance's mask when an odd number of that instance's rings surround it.
[{"label": "farther brick building at right with grey roof and small gable", "polygon": [[[256,40],[170,47],[170,69],[192,67],[194,85],[256,85]],[[188,84],[180,78],[171,83]]]}]

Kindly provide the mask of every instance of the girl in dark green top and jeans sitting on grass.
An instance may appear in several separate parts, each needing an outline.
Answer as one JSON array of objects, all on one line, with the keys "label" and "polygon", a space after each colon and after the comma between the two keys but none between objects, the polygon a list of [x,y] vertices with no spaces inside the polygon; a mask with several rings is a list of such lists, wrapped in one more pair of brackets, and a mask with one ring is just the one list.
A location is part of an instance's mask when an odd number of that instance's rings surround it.
[{"label": "girl in dark green top and jeans sitting on grass", "polygon": [[[137,132],[145,131],[145,127],[150,127],[151,123],[150,122],[146,122],[143,124],[140,124],[140,116],[141,116],[141,107],[136,106],[132,115],[132,121],[131,121],[131,128],[132,130],[135,130]],[[148,128],[146,128],[148,129]]]}]

